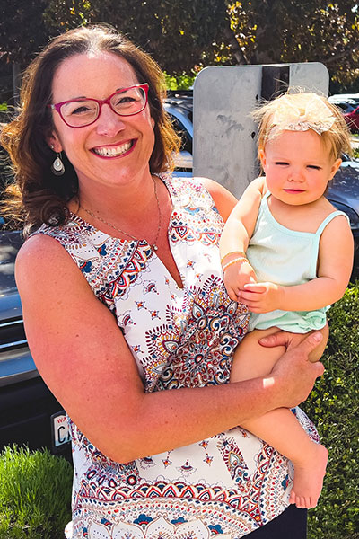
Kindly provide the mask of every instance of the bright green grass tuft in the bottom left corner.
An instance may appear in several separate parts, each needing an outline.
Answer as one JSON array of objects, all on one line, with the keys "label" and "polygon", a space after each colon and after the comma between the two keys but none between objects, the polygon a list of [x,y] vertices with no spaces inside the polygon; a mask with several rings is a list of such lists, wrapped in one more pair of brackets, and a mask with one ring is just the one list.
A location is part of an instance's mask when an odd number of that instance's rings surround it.
[{"label": "bright green grass tuft in the bottom left corner", "polygon": [[48,450],[0,455],[0,538],[63,539],[71,520],[72,467]]}]

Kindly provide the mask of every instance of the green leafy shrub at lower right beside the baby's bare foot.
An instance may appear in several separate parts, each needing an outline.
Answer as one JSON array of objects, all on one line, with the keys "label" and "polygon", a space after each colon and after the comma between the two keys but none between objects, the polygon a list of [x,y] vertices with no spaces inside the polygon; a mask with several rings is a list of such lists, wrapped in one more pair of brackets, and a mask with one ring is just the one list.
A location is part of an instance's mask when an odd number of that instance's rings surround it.
[{"label": "green leafy shrub at lower right beside the baby's bare foot", "polygon": [[359,284],[328,311],[324,376],[302,405],[316,424],[329,460],[309,539],[359,539]]}]

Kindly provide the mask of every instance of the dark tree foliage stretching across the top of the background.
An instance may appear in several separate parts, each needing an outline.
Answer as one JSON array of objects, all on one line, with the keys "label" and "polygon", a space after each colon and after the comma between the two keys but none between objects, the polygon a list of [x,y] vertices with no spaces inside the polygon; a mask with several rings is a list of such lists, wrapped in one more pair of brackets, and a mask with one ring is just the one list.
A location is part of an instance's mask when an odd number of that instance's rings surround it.
[{"label": "dark tree foliage stretching across the top of the background", "polygon": [[108,22],[180,75],[214,64],[321,61],[357,76],[357,0],[0,0],[0,54],[26,64],[48,38]]}]

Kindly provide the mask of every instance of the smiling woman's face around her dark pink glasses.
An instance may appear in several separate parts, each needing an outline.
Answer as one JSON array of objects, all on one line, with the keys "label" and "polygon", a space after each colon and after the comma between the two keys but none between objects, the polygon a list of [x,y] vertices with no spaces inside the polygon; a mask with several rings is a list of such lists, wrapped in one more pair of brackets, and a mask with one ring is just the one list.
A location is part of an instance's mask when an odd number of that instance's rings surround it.
[{"label": "smiling woman's face around her dark pink glasses", "polygon": [[[52,102],[78,97],[106,99],[120,88],[139,84],[126,60],[109,52],[78,54],[66,59],[55,72]],[[118,116],[103,104],[100,117],[90,126],[70,128],[53,110],[55,129],[48,144],[65,152],[79,179],[80,190],[118,186],[141,180],[149,173],[154,121],[147,103],[134,116]]]}]

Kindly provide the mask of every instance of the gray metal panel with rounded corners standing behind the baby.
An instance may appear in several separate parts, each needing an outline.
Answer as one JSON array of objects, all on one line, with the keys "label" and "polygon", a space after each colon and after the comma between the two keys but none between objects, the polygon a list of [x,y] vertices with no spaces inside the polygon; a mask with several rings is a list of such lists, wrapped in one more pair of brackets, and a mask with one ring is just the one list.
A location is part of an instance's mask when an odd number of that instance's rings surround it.
[{"label": "gray metal panel with rounded corners standing behind the baby", "polygon": [[[328,71],[318,62],[290,64],[290,86],[328,95]],[[262,66],[206,67],[194,85],[194,174],[219,181],[240,197],[258,175],[257,126]]]}]

